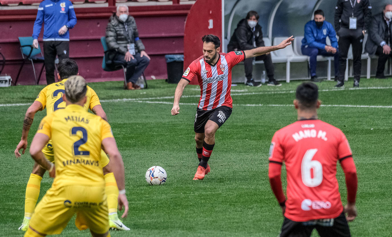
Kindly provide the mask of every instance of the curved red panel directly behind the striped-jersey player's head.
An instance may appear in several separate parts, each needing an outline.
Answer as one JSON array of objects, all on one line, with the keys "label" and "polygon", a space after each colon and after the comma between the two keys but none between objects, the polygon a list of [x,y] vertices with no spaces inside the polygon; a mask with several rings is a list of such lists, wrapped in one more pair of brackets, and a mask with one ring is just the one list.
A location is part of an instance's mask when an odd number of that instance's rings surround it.
[{"label": "curved red panel directly behind the striped-jersey player's head", "polygon": [[[184,71],[203,55],[201,37],[205,34],[214,34],[222,40],[222,0],[197,0],[189,11],[184,33]],[[198,84],[197,80],[191,84]]]}]

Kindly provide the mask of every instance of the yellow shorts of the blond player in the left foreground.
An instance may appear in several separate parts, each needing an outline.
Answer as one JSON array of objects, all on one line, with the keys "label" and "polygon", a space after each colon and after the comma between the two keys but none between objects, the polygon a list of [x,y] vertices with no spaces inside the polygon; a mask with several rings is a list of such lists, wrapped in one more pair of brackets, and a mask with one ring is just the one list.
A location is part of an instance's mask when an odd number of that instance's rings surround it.
[{"label": "yellow shorts of the blond player in the left foreground", "polygon": [[42,234],[56,235],[64,230],[74,214],[79,230],[89,228],[98,234],[109,231],[105,187],[52,187],[36,206],[29,225]]}]

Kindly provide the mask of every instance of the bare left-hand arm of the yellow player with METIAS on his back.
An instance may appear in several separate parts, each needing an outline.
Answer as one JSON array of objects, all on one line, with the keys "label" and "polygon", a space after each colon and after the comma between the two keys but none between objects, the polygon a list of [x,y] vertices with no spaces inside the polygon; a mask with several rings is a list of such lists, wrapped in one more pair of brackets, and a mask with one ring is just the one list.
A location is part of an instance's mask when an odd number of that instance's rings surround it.
[{"label": "bare left-hand arm of the yellow player with METIAS on his back", "polygon": [[44,156],[44,153],[42,153],[41,151],[48,141],[49,136],[43,133],[36,133],[33,138],[33,141],[31,141],[30,155],[39,165],[41,165],[42,168],[49,171],[49,176],[54,178],[54,175],[56,173],[54,169],[54,164],[47,160]]}]

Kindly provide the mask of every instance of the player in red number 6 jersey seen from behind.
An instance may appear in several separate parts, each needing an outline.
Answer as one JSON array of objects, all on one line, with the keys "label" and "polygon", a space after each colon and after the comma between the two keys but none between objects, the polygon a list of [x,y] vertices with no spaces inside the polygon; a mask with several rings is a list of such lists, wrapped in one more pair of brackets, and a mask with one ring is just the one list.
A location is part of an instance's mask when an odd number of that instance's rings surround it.
[{"label": "player in red number 6 jersey seen from behind", "polygon": [[[283,127],[272,138],[269,179],[283,210],[280,236],[350,236],[347,221],[357,215],[357,172],[350,145],[340,129],[317,118],[318,88],[303,83],[296,90],[298,121]],[[347,185],[347,205],[341,203],[336,163],[340,162]],[[281,166],[287,171],[287,200],[281,184]],[[348,215],[345,217],[344,212]]]}]

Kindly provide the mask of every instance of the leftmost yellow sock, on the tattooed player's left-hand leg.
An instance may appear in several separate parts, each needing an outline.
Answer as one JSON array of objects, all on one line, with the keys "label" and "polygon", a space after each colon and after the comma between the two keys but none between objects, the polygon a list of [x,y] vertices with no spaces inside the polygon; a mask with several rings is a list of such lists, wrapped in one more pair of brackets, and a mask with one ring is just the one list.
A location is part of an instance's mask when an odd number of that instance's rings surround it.
[{"label": "leftmost yellow sock, on the tattooed player's left-hand leg", "polygon": [[30,174],[25,194],[25,217],[31,217],[33,215],[35,205],[40,196],[41,180],[41,176]]}]

